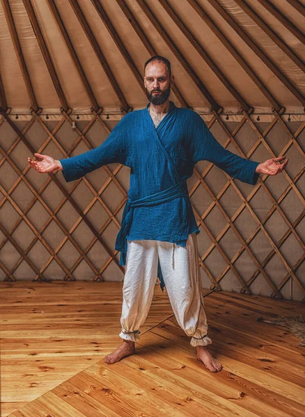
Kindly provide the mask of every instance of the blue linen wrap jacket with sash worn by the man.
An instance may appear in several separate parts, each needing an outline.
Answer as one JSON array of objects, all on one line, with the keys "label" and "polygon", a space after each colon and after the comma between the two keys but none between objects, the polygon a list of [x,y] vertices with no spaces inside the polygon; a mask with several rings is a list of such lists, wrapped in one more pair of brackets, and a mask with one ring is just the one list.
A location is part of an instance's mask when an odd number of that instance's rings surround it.
[{"label": "blue linen wrap jacket with sash worn by the man", "polygon": [[[255,185],[258,162],[233,154],[212,136],[198,113],[171,108],[157,128],[146,108],[127,113],[95,149],[60,159],[65,181],[75,181],[108,163],[130,167],[130,190],[116,250],[125,265],[128,240],[162,240],[186,247],[199,233],[187,193],[187,179],[198,161],[210,161],[230,177]],[[164,280],[158,265],[163,291]]]}]

